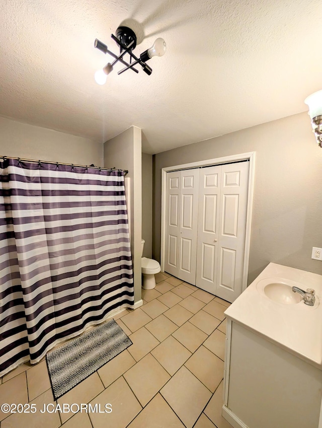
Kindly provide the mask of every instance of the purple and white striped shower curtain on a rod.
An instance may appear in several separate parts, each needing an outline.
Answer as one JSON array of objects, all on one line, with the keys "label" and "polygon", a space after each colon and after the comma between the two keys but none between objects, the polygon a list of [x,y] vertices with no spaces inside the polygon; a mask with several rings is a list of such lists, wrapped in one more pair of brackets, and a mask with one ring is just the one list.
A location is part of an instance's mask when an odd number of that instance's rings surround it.
[{"label": "purple and white striped shower curtain on a rod", "polygon": [[0,162],[0,377],[133,307],[124,173]]}]

